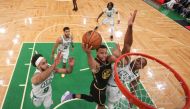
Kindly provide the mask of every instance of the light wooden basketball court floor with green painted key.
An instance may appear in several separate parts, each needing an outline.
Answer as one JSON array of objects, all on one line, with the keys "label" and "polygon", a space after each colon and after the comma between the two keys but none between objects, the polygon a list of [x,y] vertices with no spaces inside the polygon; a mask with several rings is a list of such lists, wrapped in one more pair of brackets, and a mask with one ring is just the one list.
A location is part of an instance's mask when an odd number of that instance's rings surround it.
[{"label": "light wooden basketball court floor with green painted key", "polygon": [[[143,0],[110,1],[120,12],[121,24],[115,25],[115,31],[120,31],[120,36],[114,37],[114,41],[109,39],[108,27],[102,26],[98,30],[103,37],[103,43],[109,48],[108,53],[111,54],[111,48],[115,47],[115,43],[123,46],[128,16],[130,12],[137,9],[138,13],[133,27],[132,52],[145,53],[164,61],[174,68],[190,87],[190,74],[188,73],[190,72],[190,31]],[[30,64],[31,57],[35,51],[38,51],[51,63],[50,55],[54,41],[63,33],[63,27],[68,26],[74,37],[75,48],[74,51],[70,51],[70,56],[75,58],[75,67],[73,72],[64,78],[61,78],[60,75],[54,77],[52,108],[95,109],[95,103],[78,99],[60,103],[60,98],[67,90],[74,93],[89,93],[93,77],[88,68],[87,57],[81,48],[82,35],[97,25],[96,18],[110,1],[78,0],[79,10],[77,12],[72,11],[71,0],[2,1],[0,3],[1,108],[35,108],[30,99],[31,77],[35,71]],[[93,55],[95,56],[95,51],[93,51]],[[147,69],[148,67],[145,71]],[[155,97],[162,94],[148,90],[153,83],[165,81],[160,79],[163,76],[162,70],[159,68],[154,70],[156,73],[153,74],[153,77],[155,78],[149,83],[141,82],[139,85],[141,89],[139,96],[145,95],[145,102],[162,107],[158,100],[154,100]],[[142,75],[142,79],[146,80],[147,76],[149,75]],[[171,77],[167,79],[167,82],[175,83],[176,81]],[[175,87],[174,84],[170,85]],[[164,87],[170,86],[161,85],[161,88]],[[168,94],[172,93],[172,90],[171,88],[171,90],[160,90],[160,92]],[[182,89],[176,93],[184,96]],[[184,105],[184,101],[176,105]],[[43,109],[43,106],[41,108]],[[172,109],[173,107],[167,104],[162,108]]]}]

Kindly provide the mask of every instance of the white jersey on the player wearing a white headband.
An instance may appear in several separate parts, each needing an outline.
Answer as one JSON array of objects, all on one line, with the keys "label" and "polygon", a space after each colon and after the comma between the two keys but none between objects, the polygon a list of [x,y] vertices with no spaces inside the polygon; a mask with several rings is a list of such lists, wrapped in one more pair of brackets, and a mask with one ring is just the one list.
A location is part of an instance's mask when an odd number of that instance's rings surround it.
[{"label": "white jersey on the player wearing a white headband", "polygon": [[[41,73],[40,70],[36,69],[35,73]],[[36,97],[44,97],[52,92],[51,82],[54,77],[53,72],[51,75],[43,82],[38,85],[32,84],[32,94]]]}]

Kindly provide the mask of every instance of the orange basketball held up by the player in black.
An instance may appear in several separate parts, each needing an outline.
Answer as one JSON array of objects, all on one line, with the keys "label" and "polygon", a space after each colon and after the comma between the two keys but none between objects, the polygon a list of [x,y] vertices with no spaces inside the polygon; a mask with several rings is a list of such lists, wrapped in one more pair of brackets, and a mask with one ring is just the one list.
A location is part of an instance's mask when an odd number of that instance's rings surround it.
[{"label": "orange basketball held up by the player in black", "polygon": [[97,49],[102,43],[102,37],[98,32],[91,30],[83,35],[82,43],[89,44],[92,49]]}]

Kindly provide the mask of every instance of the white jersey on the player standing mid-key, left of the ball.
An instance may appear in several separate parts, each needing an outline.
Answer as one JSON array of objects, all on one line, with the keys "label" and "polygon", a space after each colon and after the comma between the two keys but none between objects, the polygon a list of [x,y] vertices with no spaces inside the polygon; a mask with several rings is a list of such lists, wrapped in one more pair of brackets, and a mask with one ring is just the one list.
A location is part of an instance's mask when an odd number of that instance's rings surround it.
[{"label": "white jersey on the player standing mid-key, left of the ball", "polygon": [[71,37],[66,38],[64,36],[61,36],[61,38],[62,38],[62,44],[59,44],[58,50],[61,52],[69,52],[69,48],[72,42]]}]

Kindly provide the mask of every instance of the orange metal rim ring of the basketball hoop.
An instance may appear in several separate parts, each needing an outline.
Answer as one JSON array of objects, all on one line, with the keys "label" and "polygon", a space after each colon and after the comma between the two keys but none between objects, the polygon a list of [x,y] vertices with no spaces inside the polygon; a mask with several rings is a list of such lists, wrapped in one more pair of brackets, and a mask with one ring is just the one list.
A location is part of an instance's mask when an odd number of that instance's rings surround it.
[{"label": "orange metal rim ring of the basketball hoop", "polygon": [[138,106],[139,108],[142,108],[142,109],[155,109],[155,107],[152,107],[152,106],[140,101],[135,95],[131,94],[130,91],[125,87],[125,85],[123,85],[123,83],[120,81],[119,75],[117,72],[117,64],[120,62],[121,59],[123,59],[127,56],[142,56],[142,57],[154,60],[157,63],[163,65],[165,68],[169,69],[174,74],[175,78],[181,83],[181,86],[182,86],[182,88],[185,92],[185,95],[186,95],[186,103],[182,109],[188,109],[190,107],[190,90],[187,86],[187,83],[183,80],[183,78],[173,68],[171,68],[168,64],[164,63],[163,61],[161,61],[161,60],[159,60],[153,56],[143,54],[143,53],[126,53],[126,54],[123,54],[119,58],[117,58],[117,60],[115,61],[115,64],[114,64],[115,82],[118,85],[121,92],[129,100],[129,102],[135,104],[136,106]]}]

